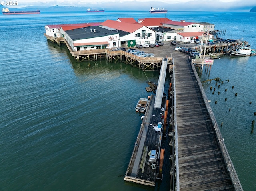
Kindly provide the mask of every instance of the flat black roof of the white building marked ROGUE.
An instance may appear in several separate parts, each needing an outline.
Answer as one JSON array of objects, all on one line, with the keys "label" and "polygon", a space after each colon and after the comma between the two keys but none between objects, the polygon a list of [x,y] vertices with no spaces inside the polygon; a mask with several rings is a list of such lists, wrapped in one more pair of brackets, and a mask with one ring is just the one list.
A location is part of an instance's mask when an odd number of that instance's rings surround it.
[{"label": "flat black roof of the white building marked ROGUE", "polygon": [[89,39],[118,34],[118,32],[116,31],[111,31],[99,26],[90,26],[73,30],[67,30],[66,33],[72,40]]}]

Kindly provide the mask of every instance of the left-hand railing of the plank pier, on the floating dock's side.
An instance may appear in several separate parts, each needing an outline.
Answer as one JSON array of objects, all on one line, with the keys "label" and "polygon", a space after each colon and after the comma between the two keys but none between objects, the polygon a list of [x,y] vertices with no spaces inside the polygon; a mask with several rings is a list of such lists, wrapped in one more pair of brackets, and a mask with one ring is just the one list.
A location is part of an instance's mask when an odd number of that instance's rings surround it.
[{"label": "left-hand railing of the plank pier, on the floating dock's side", "polygon": [[[172,63],[174,65],[174,58],[172,58]],[[173,79],[175,79],[175,67],[173,66]],[[173,81],[173,87],[175,90],[175,80]],[[174,138],[175,138],[175,163],[176,163],[176,191],[180,191],[180,175],[179,175],[179,153],[178,153],[178,127],[177,127],[177,118],[176,118],[176,92],[173,91],[174,94]]]}]

